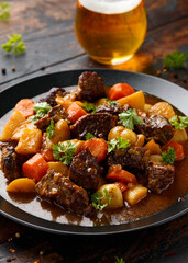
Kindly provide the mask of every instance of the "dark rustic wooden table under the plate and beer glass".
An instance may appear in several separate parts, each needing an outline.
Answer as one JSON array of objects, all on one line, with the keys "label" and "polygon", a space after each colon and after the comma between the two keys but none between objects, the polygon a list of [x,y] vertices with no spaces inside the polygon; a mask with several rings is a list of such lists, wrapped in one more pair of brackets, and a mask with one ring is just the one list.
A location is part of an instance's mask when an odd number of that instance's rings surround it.
[{"label": "dark rustic wooden table under the plate and beer glass", "polygon": [[[75,38],[76,0],[12,0],[9,22],[0,22],[0,43],[20,33],[26,54],[0,52],[0,89],[36,76],[78,68],[114,68],[158,75],[188,89],[188,67],[163,70],[166,54],[188,54],[188,1],[146,0],[148,31],[144,44],[126,64],[108,67],[92,61]],[[15,67],[15,71],[12,71]],[[152,89],[152,88],[151,88]],[[151,90],[152,92],[152,90]],[[186,263],[188,215],[163,226],[111,237],[65,237],[23,227],[0,216],[0,263]]]}]

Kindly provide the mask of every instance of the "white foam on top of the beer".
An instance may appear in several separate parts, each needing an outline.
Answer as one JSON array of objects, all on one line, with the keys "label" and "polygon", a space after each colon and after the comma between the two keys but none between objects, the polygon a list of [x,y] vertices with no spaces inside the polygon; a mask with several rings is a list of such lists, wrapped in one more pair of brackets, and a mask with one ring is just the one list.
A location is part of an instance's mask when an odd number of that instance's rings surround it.
[{"label": "white foam on top of the beer", "polygon": [[79,0],[90,11],[103,14],[124,13],[136,8],[142,0]]}]

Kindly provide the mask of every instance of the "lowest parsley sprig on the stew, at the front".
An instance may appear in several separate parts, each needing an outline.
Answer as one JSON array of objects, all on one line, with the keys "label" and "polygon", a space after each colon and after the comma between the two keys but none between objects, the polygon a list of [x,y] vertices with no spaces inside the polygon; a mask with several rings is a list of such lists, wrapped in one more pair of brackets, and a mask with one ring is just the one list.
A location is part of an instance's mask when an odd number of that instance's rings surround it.
[{"label": "lowest parsley sprig on the stew, at the front", "polygon": [[[103,193],[104,193],[104,195],[101,192],[97,192],[93,195],[91,195],[92,206],[98,210],[102,210],[104,207],[107,207],[108,205],[111,204],[111,197],[109,196],[107,188],[103,190]],[[107,197],[108,202],[104,203],[103,205],[101,205],[100,202],[103,197]]]}]

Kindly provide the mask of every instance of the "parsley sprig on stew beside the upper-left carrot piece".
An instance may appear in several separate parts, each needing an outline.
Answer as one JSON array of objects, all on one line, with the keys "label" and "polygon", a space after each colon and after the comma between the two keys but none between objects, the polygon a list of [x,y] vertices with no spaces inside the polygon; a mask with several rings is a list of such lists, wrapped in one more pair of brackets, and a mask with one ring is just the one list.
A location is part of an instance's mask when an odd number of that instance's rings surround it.
[{"label": "parsley sprig on stew beside the upper-left carrot piece", "polygon": [[47,102],[38,102],[33,105],[33,110],[36,113],[31,116],[29,119],[32,123],[36,123],[40,118],[44,117],[46,113],[52,108]]}]

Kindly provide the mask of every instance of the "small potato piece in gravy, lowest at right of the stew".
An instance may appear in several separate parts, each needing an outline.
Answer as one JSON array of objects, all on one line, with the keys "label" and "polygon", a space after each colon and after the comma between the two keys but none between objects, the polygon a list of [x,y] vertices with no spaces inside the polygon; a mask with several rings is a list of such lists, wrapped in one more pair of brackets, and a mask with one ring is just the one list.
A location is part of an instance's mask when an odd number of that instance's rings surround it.
[{"label": "small potato piece in gravy, lowest at right of the stew", "polygon": [[141,184],[129,188],[123,193],[124,199],[132,206],[139,203],[141,199],[147,196],[147,188]]}]

